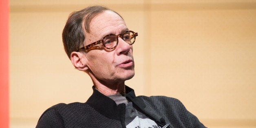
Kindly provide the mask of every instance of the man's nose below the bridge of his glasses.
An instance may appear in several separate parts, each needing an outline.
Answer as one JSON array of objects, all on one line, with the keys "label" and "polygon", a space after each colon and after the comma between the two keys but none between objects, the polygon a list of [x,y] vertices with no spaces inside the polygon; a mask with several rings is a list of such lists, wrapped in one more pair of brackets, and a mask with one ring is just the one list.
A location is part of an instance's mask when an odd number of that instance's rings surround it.
[{"label": "man's nose below the bridge of his glasses", "polygon": [[130,49],[132,49],[132,45],[129,45],[126,43],[122,38],[118,38],[118,44],[117,44],[117,55],[121,54],[127,54],[129,53]]}]

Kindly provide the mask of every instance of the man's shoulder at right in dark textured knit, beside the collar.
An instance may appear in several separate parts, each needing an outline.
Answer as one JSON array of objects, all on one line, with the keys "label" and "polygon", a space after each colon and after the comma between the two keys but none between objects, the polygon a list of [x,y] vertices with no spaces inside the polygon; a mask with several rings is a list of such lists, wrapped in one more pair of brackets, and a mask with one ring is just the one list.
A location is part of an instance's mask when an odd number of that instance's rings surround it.
[{"label": "man's shoulder at right in dark textured knit, beside the collar", "polygon": [[143,99],[148,111],[163,115],[174,127],[205,128],[179,99],[166,96],[138,96],[138,98]]}]

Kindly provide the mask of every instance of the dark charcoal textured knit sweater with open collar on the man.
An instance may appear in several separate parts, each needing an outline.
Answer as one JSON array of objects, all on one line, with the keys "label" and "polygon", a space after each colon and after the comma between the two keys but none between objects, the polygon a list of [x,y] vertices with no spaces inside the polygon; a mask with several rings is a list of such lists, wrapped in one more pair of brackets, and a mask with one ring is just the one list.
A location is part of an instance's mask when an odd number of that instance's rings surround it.
[{"label": "dark charcoal textured knit sweater with open collar on the man", "polygon": [[[126,86],[126,98],[141,113],[161,127],[205,128],[178,100],[165,96],[135,96]],[[60,103],[47,109],[40,117],[37,128],[125,128],[124,103],[103,95],[93,87],[93,95],[85,103]]]}]

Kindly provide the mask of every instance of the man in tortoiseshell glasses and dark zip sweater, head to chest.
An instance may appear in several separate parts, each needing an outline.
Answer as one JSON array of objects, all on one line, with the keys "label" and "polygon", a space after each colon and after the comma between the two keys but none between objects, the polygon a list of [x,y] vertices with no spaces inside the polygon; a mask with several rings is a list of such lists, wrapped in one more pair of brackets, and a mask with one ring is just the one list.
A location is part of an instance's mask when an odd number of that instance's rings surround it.
[{"label": "man in tortoiseshell glasses and dark zip sweater, head to chest", "polygon": [[86,103],[57,104],[37,127],[200,128],[205,127],[179,100],[139,96],[124,84],[134,74],[132,44],[138,33],[106,7],[72,13],[64,27],[64,49],[73,66],[93,81]]}]

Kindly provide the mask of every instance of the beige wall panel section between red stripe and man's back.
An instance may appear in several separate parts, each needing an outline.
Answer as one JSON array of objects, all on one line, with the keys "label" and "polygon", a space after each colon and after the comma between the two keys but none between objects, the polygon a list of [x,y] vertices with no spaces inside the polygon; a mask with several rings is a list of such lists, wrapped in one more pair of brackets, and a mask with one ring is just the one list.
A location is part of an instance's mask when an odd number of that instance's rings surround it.
[{"label": "beige wall panel section between red stripe and man's back", "polygon": [[67,15],[11,14],[11,117],[35,117],[58,102],[74,102],[74,97],[84,102],[91,94],[82,85],[92,82],[73,68],[63,50]]}]

